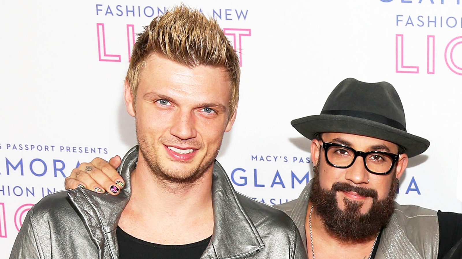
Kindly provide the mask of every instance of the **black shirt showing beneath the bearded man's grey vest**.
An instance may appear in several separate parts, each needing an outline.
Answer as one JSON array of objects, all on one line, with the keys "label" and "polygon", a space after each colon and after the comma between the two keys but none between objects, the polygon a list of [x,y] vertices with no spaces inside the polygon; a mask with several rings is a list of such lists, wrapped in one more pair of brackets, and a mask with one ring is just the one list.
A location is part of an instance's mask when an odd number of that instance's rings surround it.
[{"label": "black shirt showing beneath the bearded man's grey vest", "polygon": [[[438,259],[442,259],[446,253],[450,252],[454,246],[462,246],[462,242],[457,243],[462,239],[462,214],[454,212],[441,212],[438,211],[438,224],[439,224],[439,248],[438,248]],[[375,257],[377,253],[378,243],[380,242],[380,236],[382,231],[377,238],[376,246],[372,252],[371,259]],[[462,247],[454,247],[455,253],[452,253],[451,259],[462,258]],[[459,249],[457,249],[459,248]]]}]

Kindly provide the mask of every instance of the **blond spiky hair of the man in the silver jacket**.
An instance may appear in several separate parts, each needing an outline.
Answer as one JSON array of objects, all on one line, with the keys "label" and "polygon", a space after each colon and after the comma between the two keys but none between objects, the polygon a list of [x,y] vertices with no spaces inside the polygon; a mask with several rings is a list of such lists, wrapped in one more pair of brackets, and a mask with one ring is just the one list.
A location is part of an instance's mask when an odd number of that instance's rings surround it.
[{"label": "blond spiky hair of the man in the silver jacket", "polygon": [[149,26],[145,26],[134,44],[126,77],[134,98],[141,70],[153,53],[191,67],[223,67],[231,81],[231,118],[239,98],[239,59],[216,20],[181,5],[154,18]]}]

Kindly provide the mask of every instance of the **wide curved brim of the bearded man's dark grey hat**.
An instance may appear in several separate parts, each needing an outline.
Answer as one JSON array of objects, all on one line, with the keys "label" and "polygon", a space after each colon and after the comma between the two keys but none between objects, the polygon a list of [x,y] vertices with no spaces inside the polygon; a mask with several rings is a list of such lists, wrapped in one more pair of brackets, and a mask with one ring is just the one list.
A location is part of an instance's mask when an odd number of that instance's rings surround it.
[{"label": "wide curved brim of the bearded man's dark grey hat", "polygon": [[317,133],[322,132],[342,132],[383,139],[404,147],[408,157],[421,154],[430,146],[430,141],[409,134],[404,130],[398,130],[368,119],[345,115],[312,115],[292,120],[291,124],[300,134],[310,140]]}]

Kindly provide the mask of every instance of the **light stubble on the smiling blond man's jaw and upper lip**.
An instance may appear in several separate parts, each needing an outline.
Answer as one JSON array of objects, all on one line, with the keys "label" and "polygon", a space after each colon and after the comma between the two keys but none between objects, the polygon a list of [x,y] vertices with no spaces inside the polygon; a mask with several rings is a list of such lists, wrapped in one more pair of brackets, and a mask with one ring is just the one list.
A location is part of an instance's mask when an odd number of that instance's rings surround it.
[{"label": "light stubble on the smiling blond man's jaw and upper lip", "polygon": [[[215,158],[218,155],[220,147],[214,151],[212,155],[206,155],[205,163],[202,165],[198,165],[196,168],[193,168],[191,171],[184,173],[184,172],[175,172],[171,171],[169,168],[161,165],[158,162],[158,156],[152,144],[146,139],[145,135],[138,130],[138,126],[136,127],[136,136],[138,139],[139,149],[141,154],[146,161],[149,169],[151,170],[152,174],[157,177],[158,180],[164,182],[164,184],[174,184],[177,187],[187,187],[193,185],[197,180],[201,179],[204,176],[205,172],[209,170],[215,161]],[[170,141],[171,143],[172,141]],[[197,146],[192,143],[192,141],[180,141],[176,140],[177,144],[184,144],[188,142],[193,146]],[[172,143],[173,144],[173,143]]]}]

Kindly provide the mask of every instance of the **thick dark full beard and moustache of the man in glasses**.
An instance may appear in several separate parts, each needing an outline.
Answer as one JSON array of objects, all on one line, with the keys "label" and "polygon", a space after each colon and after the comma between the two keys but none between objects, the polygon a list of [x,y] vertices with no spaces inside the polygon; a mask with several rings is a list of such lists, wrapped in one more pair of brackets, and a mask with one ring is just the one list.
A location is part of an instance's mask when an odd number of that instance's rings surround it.
[{"label": "thick dark full beard and moustache of the man in glasses", "polygon": [[[392,174],[395,176],[395,171]],[[395,177],[388,196],[382,200],[377,198],[376,190],[353,186],[346,182],[335,182],[330,190],[324,190],[319,183],[319,166],[316,166],[310,200],[331,234],[343,241],[360,243],[374,238],[388,224],[395,209],[396,190]],[[367,213],[362,214],[360,209],[364,202],[344,198],[345,210],[341,210],[337,203],[337,191],[354,191],[359,195],[371,197],[372,206]]]}]

